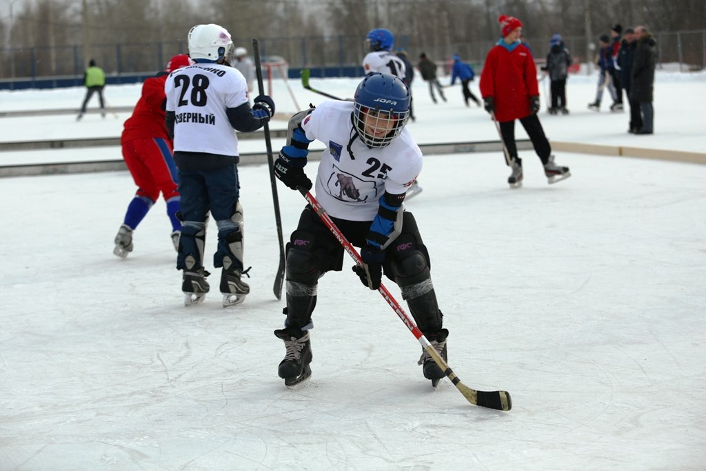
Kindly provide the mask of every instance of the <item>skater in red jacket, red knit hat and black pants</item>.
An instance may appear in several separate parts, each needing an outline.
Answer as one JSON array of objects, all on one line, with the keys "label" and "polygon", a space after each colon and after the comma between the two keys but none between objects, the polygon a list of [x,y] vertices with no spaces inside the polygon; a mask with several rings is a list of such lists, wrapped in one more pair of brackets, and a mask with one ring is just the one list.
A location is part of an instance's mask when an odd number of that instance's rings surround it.
[{"label": "skater in red jacket, red knit hat and black pants", "polygon": [[503,38],[488,52],[481,73],[480,90],[485,109],[500,126],[505,145],[505,160],[513,169],[508,178],[511,188],[522,186],[522,160],[515,144],[515,119],[530,136],[534,151],[544,165],[549,183],[570,177],[568,167],[554,163],[551,145],[539,122],[537,66],[532,52],[522,42],[522,23],[512,16],[498,18]]}]

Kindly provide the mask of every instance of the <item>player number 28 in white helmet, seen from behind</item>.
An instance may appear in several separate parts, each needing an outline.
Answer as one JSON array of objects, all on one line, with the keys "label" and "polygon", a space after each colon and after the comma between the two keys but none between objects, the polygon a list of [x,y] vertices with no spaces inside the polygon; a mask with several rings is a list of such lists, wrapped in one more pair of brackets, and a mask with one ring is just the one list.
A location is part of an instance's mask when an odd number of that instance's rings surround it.
[{"label": "player number 28 in white helmet, seen from behind", "polygon": [[209,290],[203,267],[208,214],[218,227],[213,266],[222,267],[223,306],[243,302],[250,287],[241,280],[243,265],[243,208],[238,138],[234,129],[259,129],[275,113],[267,95],[255,97],[251,108],[242,73],[224,64],[232,47],[229,32],[213,23],[189,31],[189,56],[196,62],[169,74],[167,129],[174,137],[174,162],[179,169],[181,237],[177,269],[184,270],[184,304],[203,300]]}]

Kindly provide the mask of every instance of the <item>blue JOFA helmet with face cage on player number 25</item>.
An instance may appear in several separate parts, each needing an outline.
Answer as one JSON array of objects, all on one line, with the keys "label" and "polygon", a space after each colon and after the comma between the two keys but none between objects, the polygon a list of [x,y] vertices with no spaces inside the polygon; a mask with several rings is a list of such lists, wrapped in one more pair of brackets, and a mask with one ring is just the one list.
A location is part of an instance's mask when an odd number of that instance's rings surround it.
[{"label": "blue JOFA helmet with face cage on player number 25", "polygon": [[355,90],[353,123],[369,147],[385,147],[409,119],[409,88],[397,76],[371,73]]}]

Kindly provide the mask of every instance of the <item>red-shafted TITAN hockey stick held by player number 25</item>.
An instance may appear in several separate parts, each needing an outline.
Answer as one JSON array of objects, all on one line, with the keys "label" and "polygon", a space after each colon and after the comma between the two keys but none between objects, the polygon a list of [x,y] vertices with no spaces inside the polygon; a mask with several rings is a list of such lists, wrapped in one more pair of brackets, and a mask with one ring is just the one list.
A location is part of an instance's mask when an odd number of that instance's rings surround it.
[{"label": "red-shafted TITAN hockey stick held by player number 25", "polygon": [[[336,239],[338,239],[338,242],[340,242],[343,248],[353,258],[353,260],[358,264],[362,264],[363,259],[360,257],[355,247],[352,246],[350,242],[348,242],[346,237],[343,235],[340,229],[338,229],[333,220],[331,220],[326,211],[321,207],[318,201],[316,201],[316,198],[314,198],[309,191],[306,191],[301,187],[299,187],[299,191],[304,196],[304,198],[306,198],[306,201],[309,201],[309,204],[313,208],[314,212],[318,215],[318,217],[321,217],[323,223],[326,225],[326,227],[328,227],[328,229],[330,229],[331,232],[333,232],[333,235],[336,237]],[[402,309],[402,306],[400,306],[400,304],[395,301],[393,295],[390,294],[388,289],[385,288],[382,283],[378,288],[378,292],[382,294],[383,298],[385,298],[385,301],[388,302],[390,307],[393,308],[393,311],[395,311],[395,314],[397,314],[397,317],[399,317],[402,322],[405,323],[405,326],[407,326],[409,331],[412,332],[412,335],[414,335],[414,337],[419,340],[421,347],[426,350],[429,355],[431,355],[431,358],[434,360],[434,362],[436,362],[436,364],[438,364],[439,368],[441,368],[441,371],[443,371],[444,374],[451,380],[453,385],[461,391],[461,394],[464,398],[468,400],[469,403],[497,410],[510,410],[510,408],[513,407],[513,401],[510,399],[510,393],[508,393],[508,391],[479,391],[473,388],[469,388],[464,383],[462,383],[458,376],[456,376],[456,374],[453,372],[451,367],[448,366],[448,364],[444,361],[441,355],[438,354],[433,345],[429,343],[429,340],[426,340],[426,337],[424,337],[424,334],[421,333],[421,330],[419,330],[419,327],[417,327],[412,318],[407,316],[407,313],[405,313],[405,310]]]}]

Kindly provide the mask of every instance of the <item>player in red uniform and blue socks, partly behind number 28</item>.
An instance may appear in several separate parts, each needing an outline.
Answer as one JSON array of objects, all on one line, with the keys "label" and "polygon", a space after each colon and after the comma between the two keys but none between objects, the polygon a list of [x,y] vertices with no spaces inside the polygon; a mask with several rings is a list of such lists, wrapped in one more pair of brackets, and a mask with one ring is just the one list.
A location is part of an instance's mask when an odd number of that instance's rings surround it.
[{"label": "player in red uniform and blue socks, partly behind number 28", "polygon": [[133,250],[132,235],[140,221],[147,215],[157,198],[167,203],[167,215],[172,224],[172,243],[179,247],[181,222],[179,211],[179,190],[177,166],[172,157],[172,140],[167,134],[164,105],[164,82],[170,72],[191,65],[186,54],[172,57],[164,72],[148,78],[142,85],[142,95],[133,114],[124,124],[120,136],[123,158],[132,174],[138,189],[130,201],[123,224],[115,236],[113,254],[125,258]]}]

